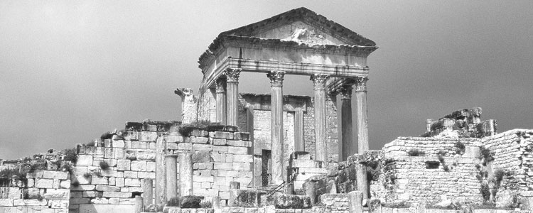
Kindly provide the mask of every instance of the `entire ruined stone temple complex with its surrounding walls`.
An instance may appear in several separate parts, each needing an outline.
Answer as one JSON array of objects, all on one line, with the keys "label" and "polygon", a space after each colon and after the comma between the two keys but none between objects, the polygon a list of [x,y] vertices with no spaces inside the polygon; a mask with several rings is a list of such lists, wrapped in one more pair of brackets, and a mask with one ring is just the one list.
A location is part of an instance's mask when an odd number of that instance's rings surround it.
[{"label": "entire ruined stone temple complex with its surrounding walls", "polygon": [[[305,8],[220,33],[200,55],[198,93],[175,91],[182,121],[126,122],[72,149],[0,160],[0,213],[530,212],[533,130],[498,133],[480,108],[369,150],[376,49]],[[239,90],[250,72],[270,94]],[[286,75],[308,76],[313,97],[284,94]]]}]

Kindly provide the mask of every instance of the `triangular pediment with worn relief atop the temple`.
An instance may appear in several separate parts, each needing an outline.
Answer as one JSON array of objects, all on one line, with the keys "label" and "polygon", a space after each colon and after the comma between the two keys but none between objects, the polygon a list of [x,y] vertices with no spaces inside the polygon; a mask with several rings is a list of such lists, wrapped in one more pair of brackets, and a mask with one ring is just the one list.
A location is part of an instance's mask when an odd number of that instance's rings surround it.
[{"label": "triangular pediment with worn relief atop the temple", "polygon": [[219,37],[223,35],[291,40],[310,45],[376,45],[372,40],[303,7],[220,33]]}]

